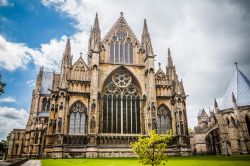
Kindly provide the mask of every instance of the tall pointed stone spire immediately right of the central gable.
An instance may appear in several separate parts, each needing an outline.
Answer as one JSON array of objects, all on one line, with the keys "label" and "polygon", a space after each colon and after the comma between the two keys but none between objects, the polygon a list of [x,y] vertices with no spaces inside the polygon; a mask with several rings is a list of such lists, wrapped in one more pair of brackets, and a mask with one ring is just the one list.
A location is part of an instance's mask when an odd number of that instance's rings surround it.
[{"label": "tall pointed stone spire immediately right of the central gable", "polygon": [[151,44],[150,34],[148,32],[147,21],[144,19],[142,39],[141,39],[142,47],[146,52],[146,56],[153,56],[153,48]]}]

